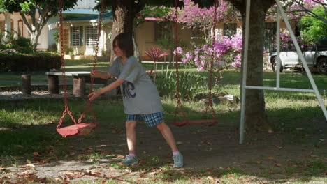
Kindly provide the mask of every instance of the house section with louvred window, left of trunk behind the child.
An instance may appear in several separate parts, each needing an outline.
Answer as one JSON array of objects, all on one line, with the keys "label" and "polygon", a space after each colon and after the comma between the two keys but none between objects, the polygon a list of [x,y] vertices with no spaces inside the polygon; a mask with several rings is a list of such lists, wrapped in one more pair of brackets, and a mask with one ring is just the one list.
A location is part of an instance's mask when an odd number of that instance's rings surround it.
[{"label": "house section with louvred window, left of trunk behind the child", "polygon": [[[96,2],[93,0],[78,0],[76,6],[63,12],[63,35],[66,54],[93,55],[97,38],[98,11],[93,10]],[[103,15],[103,24],[112,22],[111,13]],[[31,22],[30,18],[27,18]],[[106,54],[108,45],[106,40],[110,32],[110,26],[103,26],[101,37],[99,38],[99,54]],[[22,21],[19,13],[1,13],[0,31],[9,31],[13,36],[23,36],[29,38],[27,27]],[[57,49],[59,32],[59,15],[51,17],[48,24],[43,27],[38,38],[37,49],[49,50]]]}]

